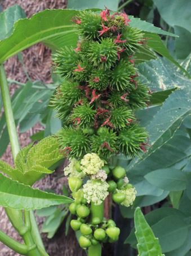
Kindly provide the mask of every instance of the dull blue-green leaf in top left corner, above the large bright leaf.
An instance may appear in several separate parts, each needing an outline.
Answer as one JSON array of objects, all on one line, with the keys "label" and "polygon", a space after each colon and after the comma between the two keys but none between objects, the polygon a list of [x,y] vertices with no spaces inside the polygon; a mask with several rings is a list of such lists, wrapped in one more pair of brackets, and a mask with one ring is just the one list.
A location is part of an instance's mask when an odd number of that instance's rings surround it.
[{"label": "dull blue-green leaf in top left corner, above the large bright leaf", "polygon": [[25,12],[19,5],[14,5],[0,14],[0,41],[9,37],[13,32],[15,21],[26,18]]}]

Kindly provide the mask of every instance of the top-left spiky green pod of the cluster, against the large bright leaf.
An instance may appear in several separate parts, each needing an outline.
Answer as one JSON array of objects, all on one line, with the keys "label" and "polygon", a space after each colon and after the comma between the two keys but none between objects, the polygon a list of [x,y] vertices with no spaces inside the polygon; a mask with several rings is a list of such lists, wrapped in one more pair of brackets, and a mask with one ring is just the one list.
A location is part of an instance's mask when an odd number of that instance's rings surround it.
[{"label": "top-left spiky green pod of the cluster, against the large bright leaf", "polygon": [[99,37],[98,31],[101,29],[101,17],[94,12],[81,12],[79,14],[81,24],[78,25],[78,34],[89,40]]}]

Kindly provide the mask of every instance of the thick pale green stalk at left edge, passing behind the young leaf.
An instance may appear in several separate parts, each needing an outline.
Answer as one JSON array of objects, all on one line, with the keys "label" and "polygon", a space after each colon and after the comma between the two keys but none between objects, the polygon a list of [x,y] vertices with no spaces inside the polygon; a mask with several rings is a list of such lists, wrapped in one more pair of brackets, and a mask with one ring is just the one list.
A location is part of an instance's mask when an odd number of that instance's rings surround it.
[{"label": "thick pale green stalk at left edge, passing behind the young leaf", "polygon": [[[6,77],[6,73],[3,65],[0,66],[0,86],[1,86],[1,93],[2,93],[2,99],[3,99],[3,106],[4,106],[5,116],[6,116],[8,135],[10,138],[12,155],[15,162],[16,155],[20,150],[20,146],[19,146],[19,139],[16,132],[14,114],[12,111],[11,97],[8,90],[7,77]],[[34,244],[34,240],[31,235],[31,225],[29,227],[30,212],[25,212],[25,216],[26,216],[25,218],[27,221],[26,225],[22,220],[23,212],[21,210],[18,211],[18,210],[12,210],[12,209],[6,208],[6,214],[10,219],[10,222],[16,229],[16,231],[18,231],[19,234],[23,237],[25,244],[29,246],[28,254],[26,255],[41,256],[41,254],[37,249],[37,245]],[[35,229],[35,231],[39,233],[38,229]],[[8,239],[8,236],[7,236],[7,239]],[[6,242],[6,245],[7,244],[8,242]]]}]

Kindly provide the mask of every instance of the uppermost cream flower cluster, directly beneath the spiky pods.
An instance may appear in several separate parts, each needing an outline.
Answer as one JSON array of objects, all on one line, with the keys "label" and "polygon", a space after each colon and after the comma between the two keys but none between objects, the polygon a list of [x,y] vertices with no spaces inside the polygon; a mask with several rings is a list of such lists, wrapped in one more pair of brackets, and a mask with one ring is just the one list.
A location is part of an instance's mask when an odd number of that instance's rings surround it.
[{"label": "uppermost cream flower cluster, directly beneath the spiky pods", "polygon": [[92,175],[104,166],[104,161],[95,153],[86,154],[81,160],[81,170],[85,175]]}]

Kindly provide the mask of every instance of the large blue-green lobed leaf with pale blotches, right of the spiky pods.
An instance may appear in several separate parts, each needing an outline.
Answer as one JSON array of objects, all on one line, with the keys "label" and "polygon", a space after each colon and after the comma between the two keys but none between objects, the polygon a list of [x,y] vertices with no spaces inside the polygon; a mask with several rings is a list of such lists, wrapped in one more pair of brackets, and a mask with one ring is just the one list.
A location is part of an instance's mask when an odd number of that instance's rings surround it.
[{"label": "large blue-green lobed leaf with pale blotches, right of the spiky pods", "polygon": [[139,64],[138,69],[141,79],[148,83],[151,89],[177,89],[168,96],[146,128],[152,146],[142,159],[132,161],[129,170],[170,140],[184,118],[191,114],[191,80],[183,76],[179,68],[165,59],[157,59]]}]

